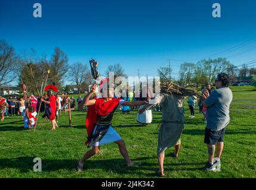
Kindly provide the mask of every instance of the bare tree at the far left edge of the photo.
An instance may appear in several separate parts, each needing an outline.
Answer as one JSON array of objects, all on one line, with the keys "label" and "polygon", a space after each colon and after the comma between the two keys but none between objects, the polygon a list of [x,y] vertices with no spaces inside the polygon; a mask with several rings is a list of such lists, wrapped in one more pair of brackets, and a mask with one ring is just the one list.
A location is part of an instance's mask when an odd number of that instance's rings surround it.
[{"label": "bare tree at the far left edge of the photo", "polygon": [[0,40],[0,85],[11,83],[16,79],[14,68],[17,56],[14,48],[5,40]]}]

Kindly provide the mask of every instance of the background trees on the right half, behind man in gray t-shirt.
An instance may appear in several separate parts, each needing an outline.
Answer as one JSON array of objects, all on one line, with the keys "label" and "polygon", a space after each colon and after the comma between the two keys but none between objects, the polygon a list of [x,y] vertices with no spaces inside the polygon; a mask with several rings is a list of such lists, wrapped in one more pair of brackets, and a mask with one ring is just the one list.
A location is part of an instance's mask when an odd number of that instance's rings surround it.
[{"label": "background trees on the right half, behind man in gray t-shirt", "polygon": [[[158,71],[160,78],[169,78],[171,69],[161,67]],[[196,64],[192,62],[181,64],[178,79],[175,82],[181,86],[204,85],[206,83],[214,84],[215,77],[221,72],[226,72],[230,76],[232,83],[237,83],[239,78],[253,77],[256,75],[255,68],[248,68],[246,65],[238,68],[238,66],[227,61],[226,58],[202,59]]]}]

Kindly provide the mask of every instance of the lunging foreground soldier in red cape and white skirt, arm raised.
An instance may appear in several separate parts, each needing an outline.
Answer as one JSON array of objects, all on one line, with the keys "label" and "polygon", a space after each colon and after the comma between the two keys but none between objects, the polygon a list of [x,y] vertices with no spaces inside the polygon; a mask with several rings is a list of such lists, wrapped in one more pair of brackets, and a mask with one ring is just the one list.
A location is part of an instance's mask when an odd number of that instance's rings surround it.
[{"label": "lunging foreground soldier in red cape and white skirt, arm raised", "polygon": [[[107,80],[108,81],[108,80]],[[102,84],[102,83],[101,83]],[[103,144],[113,143],[118,144],[119,151],[125,159],[127,166],[134,166],[137,163],[131,161],[124,140],[119,136],[118,132],[112,128],[112,118],[115,110],[121,106],[140,106],[146,105],[146,101],[127,102],[122,99],[115,99],[115,90],[113,87],[108,87],[107,90],[101,90],[103,98],[91,99],[95,93],[97,85],[91,87],[90,93],[84,97],[83,105],[88,106],[87,112],[87,133],[88,141],[86,144],[92,146],[92,149],[85,153],[84,157],[78,161],[77,171],[83,170],[85,160],[94,156],[100,151],[100,146]]]}]

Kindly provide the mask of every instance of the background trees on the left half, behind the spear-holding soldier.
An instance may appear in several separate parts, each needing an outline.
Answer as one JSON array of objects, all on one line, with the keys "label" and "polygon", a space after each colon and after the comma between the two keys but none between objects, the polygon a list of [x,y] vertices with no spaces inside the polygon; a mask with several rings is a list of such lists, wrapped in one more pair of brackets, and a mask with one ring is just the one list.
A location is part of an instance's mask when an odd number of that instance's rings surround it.
[{"label": "background trees on the left half, behind the spear-holding soldier", "polygon": [[[29,94],[41,95],[50,69],[48,84],[62,89],[64,81],[70,81],[78,88],[78,93],[81,93],[87,91],[92,83],[91,71],[87,65],[82,62],[69,64],[68,56],[59,47],[55,47],[50,56],[39,56],[35,49],[23,50],[18,55],[13,46],[0,40],[0,86],[17,81],[20,91],[25,84]],[[121,64],[109,65],[103,75],[107,77],[110,71],[115,72],[115,77],[127,77]],[[66,88],[69,91],[69,85]]]}]

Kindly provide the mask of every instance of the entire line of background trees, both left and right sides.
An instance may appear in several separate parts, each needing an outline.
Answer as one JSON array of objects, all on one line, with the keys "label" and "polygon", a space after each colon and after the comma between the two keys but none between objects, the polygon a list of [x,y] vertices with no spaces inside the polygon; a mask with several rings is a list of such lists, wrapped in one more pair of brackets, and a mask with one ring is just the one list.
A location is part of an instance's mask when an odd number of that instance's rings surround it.
[{"label": "entire line of background trees, both left and right sides", "polygon": [[[23,51],[18,55],[14,47],[8,45],[5,40],[0,40],[0,86],[18,81],[20,90],[22,85],[27,85],[28,93],[42,94],[43,85],[48,69],[48,84],[54,84],[61,89],[64,81],[72,81],[78,88],[78,93],[87,91],[88,85],[92,83],[92,77],[88,64],[74,62],[69,64],[66,53],[59,47],[55,47],[52,55],[46,54],[39,56],[34,49]],[[161,67],[158,69],[160,78],[171,77],[172,69]],[[104,72],[107,77],[109,72],[115,73],[115,78],[127,77],[121,64],[109,65]],[[205,83],[213,84],[215,76],[220,72],[226,72],[230,75],[232,83],[236,83],[240,77],[252,77],[256,83],[256,69],[242,68],[234,66],[226,58],[203,59],[195,63],[184,62],[180,66],[178,83],[184,85],[203,85]],[[68,90],[68,89],[66,89]]]}]

